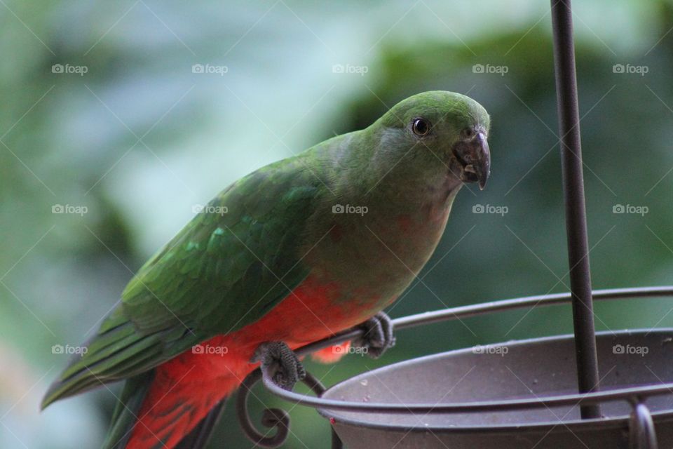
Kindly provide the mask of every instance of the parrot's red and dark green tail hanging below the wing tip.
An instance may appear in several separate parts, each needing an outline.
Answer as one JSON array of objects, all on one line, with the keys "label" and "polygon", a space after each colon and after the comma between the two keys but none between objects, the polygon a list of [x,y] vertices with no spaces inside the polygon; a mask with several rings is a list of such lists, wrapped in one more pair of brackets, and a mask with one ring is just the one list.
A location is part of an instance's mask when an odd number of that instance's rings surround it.
[{"label": "parrot's red and dark green tail hanging below the wing tip", "polygon": [[127,380],[102,449],[202,449],[236,378],[175,379],[159,366]]}]

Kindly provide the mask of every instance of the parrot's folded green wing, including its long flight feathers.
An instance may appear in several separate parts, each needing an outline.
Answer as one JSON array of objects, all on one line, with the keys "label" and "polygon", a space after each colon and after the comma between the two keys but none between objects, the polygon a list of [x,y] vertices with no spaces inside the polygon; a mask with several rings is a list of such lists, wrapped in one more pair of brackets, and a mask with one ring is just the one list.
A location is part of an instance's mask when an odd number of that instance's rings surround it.
[{"label": "parrot's folded green wing, including its long flight feathers", "polygon": [[235,182],[144,264],[42,406],[253,323],[301,283],[304,227],[324,187],[299,157]]}]

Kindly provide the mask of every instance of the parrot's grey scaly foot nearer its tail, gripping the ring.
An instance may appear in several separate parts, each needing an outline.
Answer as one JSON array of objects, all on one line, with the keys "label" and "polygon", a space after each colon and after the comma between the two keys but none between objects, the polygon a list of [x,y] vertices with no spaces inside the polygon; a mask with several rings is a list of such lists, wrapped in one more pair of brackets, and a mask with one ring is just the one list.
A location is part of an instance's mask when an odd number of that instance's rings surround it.
[{"label": "parrot's grey scaly foot nearer its tail, gripping the ring", "polygon": [[260,344],[254,351],[252,362],[259,362],[263,373],[268,373],[275,384],[289,391],[306,377],[299,357],[284,342]]}]

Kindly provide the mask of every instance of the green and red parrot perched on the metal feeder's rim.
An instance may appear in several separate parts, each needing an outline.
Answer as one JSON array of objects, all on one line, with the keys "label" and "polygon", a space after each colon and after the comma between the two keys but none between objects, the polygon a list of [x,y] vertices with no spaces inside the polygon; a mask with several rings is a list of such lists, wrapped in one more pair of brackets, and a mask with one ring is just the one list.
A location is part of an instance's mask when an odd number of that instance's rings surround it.
[{"label": "green and red parrot perched on the metal feeder's rim", "polygon": [[292,349],[341,330],[364,326],[353,344],[379,356],[394,343],[381,311],[428,262],[462,185],[486,185],[488,133],[475,100],[419,93],[233,182],[140,268],[42,407],[125,380],[104,448],[200,448],[260,349],[276,345],[287,388]]}]

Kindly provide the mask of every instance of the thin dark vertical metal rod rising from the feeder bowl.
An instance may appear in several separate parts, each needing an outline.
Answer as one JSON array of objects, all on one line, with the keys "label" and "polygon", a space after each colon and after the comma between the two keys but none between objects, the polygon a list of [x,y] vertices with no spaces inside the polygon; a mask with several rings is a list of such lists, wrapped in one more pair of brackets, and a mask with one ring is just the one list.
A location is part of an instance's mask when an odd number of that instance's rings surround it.
[{"label": "thin dark vertical metal rod rising from the feeder bowl", "polygon": [[[584,201],[573,16],[571,0],[551,0],[551,4],[577,377],[579,391],[584,393],[599,389],[599,376]],[[583,418],[600,417],[600,406],[583,406],[581,415]]]}]

